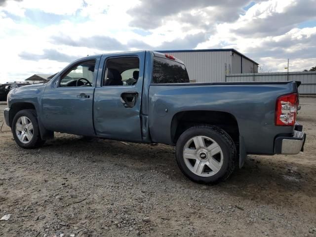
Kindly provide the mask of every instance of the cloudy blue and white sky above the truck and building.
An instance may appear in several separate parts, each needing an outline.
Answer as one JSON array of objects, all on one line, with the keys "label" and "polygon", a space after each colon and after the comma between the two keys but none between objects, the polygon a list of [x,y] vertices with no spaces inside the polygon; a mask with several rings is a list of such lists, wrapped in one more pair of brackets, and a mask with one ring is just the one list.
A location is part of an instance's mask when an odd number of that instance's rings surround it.
[{"label": "cloudy blue and white sky above the truck and building", "polygon": [[267,71],[316,66],[315,0],[0,0],[0,82],[87,54],[235,48]]}]

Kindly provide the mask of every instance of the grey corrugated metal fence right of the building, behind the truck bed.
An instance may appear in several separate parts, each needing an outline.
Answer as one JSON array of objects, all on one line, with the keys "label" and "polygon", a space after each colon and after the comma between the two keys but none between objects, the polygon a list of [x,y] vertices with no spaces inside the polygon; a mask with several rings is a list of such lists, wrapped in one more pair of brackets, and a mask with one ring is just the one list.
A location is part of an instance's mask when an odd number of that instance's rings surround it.
[{"label": "grey corrugated metal fence right of the building, behind the truck bed", "polygon": [[316,72],[289,72],[287,73],[243,73],[226,76],[227,82],[234,81],[280,81],[298,80],[300,94],[316,94]]}]

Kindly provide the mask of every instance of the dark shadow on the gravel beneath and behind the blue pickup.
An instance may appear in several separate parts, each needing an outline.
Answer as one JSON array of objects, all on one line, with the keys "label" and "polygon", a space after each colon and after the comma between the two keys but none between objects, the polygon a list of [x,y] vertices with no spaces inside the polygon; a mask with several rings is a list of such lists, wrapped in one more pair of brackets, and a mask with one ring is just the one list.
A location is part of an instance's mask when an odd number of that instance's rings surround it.
[{"label": "dark shadow on the gravel beneath and behind the blue pickup", "polygon": [[[174,148],[165,145],[135,144],[119,141],[93,139],[84,141],[78,136],[56,138],[42,150],[65,153],[86,162],[116,163],[123,159],[126,168],[156,170],[161,178],[177,182],[177,186],[197,190],[200,193],[227,194],[233,198],[247,198],[258,204],[293,205],[304,197],[316,197],[315,170],[301,163],[291,163],[275,157],[248,156],[242,169],[237,169],[229,180],[216,185],[198,185],[186,179],[174,158]],[[71,152],[71,156],[67,153]],[[300,203],[302,205],[302,203]]]}]

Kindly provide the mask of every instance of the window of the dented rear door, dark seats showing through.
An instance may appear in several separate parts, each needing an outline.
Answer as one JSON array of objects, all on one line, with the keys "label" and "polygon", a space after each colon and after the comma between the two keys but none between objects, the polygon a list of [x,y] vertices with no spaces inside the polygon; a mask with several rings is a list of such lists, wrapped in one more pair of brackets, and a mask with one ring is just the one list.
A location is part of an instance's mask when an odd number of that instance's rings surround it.
[{"label": "window of the dented rear door, dark seats showing through", "polygon": [[110,58],[106,62],[102,85],[135,85],[138,78],[138,57]]}]

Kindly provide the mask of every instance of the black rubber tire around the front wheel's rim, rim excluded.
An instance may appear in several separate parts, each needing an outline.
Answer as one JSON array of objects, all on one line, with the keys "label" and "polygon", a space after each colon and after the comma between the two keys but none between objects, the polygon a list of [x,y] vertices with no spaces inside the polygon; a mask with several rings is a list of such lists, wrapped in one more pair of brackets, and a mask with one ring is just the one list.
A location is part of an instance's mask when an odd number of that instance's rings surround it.
[{"label": "black rubber tire around the front wheel's rim, rim excluded", "polygon": [[[33,124],[33,137],[27,143],[21,142],[19,140],[19,138],[17,137],[16,131],[15,131],[17,120],[22,116],[29,118],[29,120]],[[37,115],[36,115],[35,110],[32,110],[32,109],[21,110],[18,113],[16,113],[16,115],[14,116],[13,121],[12,121],[11,130],[12,130],[12,134],[13,134],[13,137],[14,137],[16,144],[18,144],[22,148],[26,148],[26,149],[37,148],[37,147],[42,146],[45,142],[40,137],[40,128],[39,128],[39,123],[37,120]]]}]

